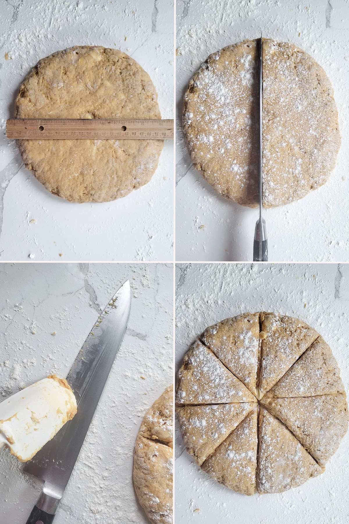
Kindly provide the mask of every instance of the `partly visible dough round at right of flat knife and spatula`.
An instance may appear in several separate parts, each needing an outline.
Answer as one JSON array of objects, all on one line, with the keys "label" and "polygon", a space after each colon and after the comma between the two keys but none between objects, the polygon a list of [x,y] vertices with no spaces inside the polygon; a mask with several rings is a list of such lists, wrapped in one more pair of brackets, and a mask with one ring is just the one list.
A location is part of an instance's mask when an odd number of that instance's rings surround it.
[{"label": "partly visible dough round at right of flat knife and spatula", "polygon": [[133,482],[152,524],[173,520],[173,386],[145,413],[134,444]]}]

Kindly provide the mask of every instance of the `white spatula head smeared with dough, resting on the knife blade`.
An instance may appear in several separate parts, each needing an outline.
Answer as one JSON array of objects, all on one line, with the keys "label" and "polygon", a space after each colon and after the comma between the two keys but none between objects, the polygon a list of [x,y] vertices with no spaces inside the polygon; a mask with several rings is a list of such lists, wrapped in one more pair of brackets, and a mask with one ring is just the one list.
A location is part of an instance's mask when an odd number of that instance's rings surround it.
[{"label": "white spatula head smeared with dough, resting on the knife blade", "polygon": [[64,378],[50,375],[0,403],[0,447],[21,462],[30,460],[76,414]]}]

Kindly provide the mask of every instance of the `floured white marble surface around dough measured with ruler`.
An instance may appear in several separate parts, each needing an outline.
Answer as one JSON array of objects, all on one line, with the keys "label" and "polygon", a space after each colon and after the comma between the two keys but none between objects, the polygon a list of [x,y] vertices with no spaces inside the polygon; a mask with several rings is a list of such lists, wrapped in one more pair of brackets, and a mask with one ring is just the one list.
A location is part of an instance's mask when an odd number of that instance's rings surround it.
[{"label": "floured white marble surface around dough measured with ruler", "polygon": [[155,85],[162,118],[173,118],[173,32],[173,0],[0,3],[1,260],[27,260],[30,254],[35,260],[173,259],[171,140],[165,140],[147,185],[114,202],[76,204],[44,189],[24,168],[15,141],[5,137],[6,119],[30,69],[74,45],[111,47],[132,56]]}]

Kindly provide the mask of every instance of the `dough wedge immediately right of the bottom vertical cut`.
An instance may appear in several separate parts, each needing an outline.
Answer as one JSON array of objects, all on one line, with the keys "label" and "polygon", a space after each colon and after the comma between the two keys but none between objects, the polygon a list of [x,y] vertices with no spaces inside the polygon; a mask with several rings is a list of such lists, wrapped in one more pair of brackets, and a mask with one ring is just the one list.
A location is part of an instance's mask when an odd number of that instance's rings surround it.
[{"label": "dough wedge immediately right of the bottom vertical cut", "polygon": [[259,419],[259,493],[281,493],[322,473],[295,436],[262,406]]}]

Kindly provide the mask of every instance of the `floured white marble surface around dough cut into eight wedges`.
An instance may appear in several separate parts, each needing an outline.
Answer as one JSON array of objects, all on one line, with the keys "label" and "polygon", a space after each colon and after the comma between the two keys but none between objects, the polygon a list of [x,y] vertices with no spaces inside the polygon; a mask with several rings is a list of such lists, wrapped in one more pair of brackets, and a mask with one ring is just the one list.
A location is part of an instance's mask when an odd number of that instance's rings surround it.
[{"label": "floured white marble surface around dough cut into eight wedges", "polygon": [[[176,371],[204,329],[245,311],[305,320],[329,343],[349,390],[349,265],[177,264]],[[299,488],[247,497],[219,485],[175,441],[176,524],[346,524],[349,435],[326,471]],[[195,510],[198,510],[195,512]]]}]

